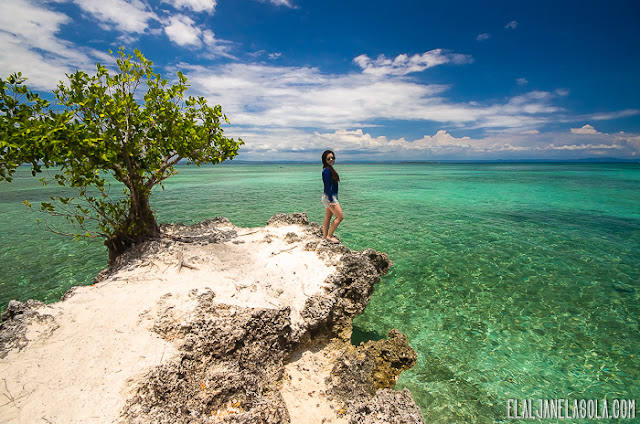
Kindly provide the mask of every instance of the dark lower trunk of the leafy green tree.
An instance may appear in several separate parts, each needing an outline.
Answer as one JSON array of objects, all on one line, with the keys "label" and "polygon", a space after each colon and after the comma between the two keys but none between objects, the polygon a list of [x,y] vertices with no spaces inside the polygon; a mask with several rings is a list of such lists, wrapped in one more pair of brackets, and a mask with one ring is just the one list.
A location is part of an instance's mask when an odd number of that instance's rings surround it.
[{"label": "dark lower trunk of the leafy green tree", "polygon": [[109,250],[109,266],[135,244],[153,239],[160,234],[160,227],[149,205],[149,193],[141,191],[142,193],[135,194],[132,192],[129,215],[123,225],[116,229],[115,234],[104,242]]}]

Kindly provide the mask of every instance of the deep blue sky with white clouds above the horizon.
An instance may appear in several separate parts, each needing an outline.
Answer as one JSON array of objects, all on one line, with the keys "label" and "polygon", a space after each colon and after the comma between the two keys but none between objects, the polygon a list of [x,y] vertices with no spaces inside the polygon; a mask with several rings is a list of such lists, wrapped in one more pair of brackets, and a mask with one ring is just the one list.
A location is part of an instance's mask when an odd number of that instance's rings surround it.
[{"label": "deep blue sky with white clouds above the horizon", "polygon": [[139,49],[222,105],[237,159],[640,160],[633,1],[1,0],[0,77]]}]

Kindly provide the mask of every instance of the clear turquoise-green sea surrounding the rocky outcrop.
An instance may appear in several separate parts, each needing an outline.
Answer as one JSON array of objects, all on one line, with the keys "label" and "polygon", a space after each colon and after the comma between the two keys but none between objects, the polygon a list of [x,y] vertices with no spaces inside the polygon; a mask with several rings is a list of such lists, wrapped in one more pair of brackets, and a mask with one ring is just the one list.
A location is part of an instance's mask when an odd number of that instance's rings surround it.
[{"label": "clear turquoise-green sea surrounding the rocky outcrop", "polygon": [[[318,165],[178,169],[154,191],[160,222],[225,216],[251,227],[302,211],[322,220]],[[509,399],[640,400],[639,164],[336,169],[342,242],[395,263],[354,339],[391,328],[409,337],[419,360],[397,388],[412,391],[428,423],[507,421]],[[3,308],[10,299],[56,301],[106,266],[101,241],[35,223],[21,202],[58,189],[29,175],[24,168],[0,183]]]}]

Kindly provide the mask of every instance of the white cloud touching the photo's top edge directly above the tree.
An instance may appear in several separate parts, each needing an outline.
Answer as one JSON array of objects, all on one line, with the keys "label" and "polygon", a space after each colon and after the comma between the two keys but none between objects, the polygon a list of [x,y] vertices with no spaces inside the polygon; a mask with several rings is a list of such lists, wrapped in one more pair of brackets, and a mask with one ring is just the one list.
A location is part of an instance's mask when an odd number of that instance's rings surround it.
[{"label": "white cloud touching the photo's top edge directly above the tree", "polygon": [[143,33],[150,20],[158,20],[139,0],[74,0],[74,3],[107,29],[115,27],[123,32]]}]

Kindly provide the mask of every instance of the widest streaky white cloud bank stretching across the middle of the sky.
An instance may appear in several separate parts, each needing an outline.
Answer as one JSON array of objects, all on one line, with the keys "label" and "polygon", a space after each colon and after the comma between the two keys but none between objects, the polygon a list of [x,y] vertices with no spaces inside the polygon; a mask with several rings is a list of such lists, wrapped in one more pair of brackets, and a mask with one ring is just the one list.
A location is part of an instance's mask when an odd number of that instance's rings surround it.
[{"label": "widest streaky white cloud bank stretching across the middle of the sky", "polygon": [[522,132],[557,121],[557,95],[532,91],[492,104],[456,103],[448,86],[402,75],[326,74],[317,68],[233,63],[184,69],[192,90],[224,105],[235,125],[353,128],[380,119],[431,121],[484,131]]}]

